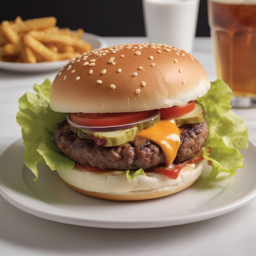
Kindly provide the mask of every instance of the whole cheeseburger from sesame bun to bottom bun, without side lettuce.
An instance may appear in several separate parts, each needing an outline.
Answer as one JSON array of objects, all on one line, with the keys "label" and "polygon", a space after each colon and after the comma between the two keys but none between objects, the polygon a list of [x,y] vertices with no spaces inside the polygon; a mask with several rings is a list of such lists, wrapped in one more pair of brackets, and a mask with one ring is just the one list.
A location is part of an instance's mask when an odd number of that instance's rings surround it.
[{"label": "whole cheeseburger from sesame bun to bottom bun, without side lettuce", "polygon": [[146,200],[191,186],[204,168],[209,130],[196,102],[210,88],[191,54],[163,44],[97,49],[67,63],[50,106],[67,119],[54,142],[74,168],[58,167],[72,189],[108,200]]}]

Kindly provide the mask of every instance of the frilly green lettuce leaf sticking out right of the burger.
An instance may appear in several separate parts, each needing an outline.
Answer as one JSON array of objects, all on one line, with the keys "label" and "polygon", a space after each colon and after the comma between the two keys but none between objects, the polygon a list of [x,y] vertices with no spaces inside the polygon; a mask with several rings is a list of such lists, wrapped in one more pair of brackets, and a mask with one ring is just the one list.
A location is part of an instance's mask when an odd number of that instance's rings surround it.
[{"label": "frilly green lettuce leaf sticking out right of the burger", "polygon": [[210,178],[220,172],[234,175],[243,167],[240,149],[248,147],[249,134],[245,122],[231,111],[232,91],[222,80],[211,82],[207,94],[197,101],[204,106],[209,137],[204,144],[204,158],[211,162]]}]

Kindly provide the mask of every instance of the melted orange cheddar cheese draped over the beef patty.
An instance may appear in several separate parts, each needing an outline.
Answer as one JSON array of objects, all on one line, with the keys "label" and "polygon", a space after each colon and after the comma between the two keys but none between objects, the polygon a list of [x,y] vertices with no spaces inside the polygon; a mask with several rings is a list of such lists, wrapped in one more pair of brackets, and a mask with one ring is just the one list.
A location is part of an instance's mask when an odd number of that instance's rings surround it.
[{"label": "melted orange cheddar cheese draped over the beef patty", "polygon": [[154,126],[137,132],[136,136],[154,141],[164,152],[166,166],[173,163],[180,146],[180,131],[173,120],[160,120]]}]

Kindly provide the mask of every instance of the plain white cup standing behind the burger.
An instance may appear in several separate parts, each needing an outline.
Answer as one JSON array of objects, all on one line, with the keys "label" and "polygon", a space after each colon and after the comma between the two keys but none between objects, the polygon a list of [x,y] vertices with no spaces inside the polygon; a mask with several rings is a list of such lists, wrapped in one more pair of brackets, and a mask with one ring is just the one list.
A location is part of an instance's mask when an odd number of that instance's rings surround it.
[{"label": "plain white cup standing behind the burger", "polygon": [[200,0],[142,0],[149,43],[192,52]]}]

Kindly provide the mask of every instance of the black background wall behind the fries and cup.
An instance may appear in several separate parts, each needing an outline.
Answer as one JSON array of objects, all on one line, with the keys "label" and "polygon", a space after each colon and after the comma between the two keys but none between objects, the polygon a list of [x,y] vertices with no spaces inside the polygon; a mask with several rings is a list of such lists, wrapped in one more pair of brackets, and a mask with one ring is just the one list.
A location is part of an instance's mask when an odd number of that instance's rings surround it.
[{"label": "black background wall behind the fries and cup", "polygon": [[[0,0],[0,21],[55,16],[58,27],[99,36],[145,36],[141,0]],[[207,0],[200,0],[196,36],[210,36]]]}]

